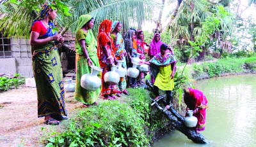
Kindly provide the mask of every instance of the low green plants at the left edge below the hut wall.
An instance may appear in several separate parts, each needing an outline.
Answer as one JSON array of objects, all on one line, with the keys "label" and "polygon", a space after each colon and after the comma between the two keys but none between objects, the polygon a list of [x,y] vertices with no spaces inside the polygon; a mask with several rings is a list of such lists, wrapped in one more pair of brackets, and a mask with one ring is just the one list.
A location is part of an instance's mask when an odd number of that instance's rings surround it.
[{"label": "low green plants at the left edge below the hut wall", "polygon": [[18,78],[7,78],[5,76],[0,77],[0,92],[6,91],[10,88],[18,88],[19,85],[25,83],[24,78],[20,78],[20,74],[15,74]]}]

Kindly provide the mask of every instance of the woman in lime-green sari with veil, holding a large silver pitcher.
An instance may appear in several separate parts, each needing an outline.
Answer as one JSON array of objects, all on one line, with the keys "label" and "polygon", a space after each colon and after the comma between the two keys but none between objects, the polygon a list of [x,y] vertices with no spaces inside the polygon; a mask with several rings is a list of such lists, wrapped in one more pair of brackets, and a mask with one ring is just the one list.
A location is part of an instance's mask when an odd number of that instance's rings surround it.
[{"label": "woman in lime-green sari with veil, holding a large silver pitcher", "polygon": [[[81,76],[91,73],[92,66],[100,67],[97,57],[97,41],[93,36],[94,19],[91,15],[81,15],[77,24],[76,33],[76,89],[74,97],[82,102],[84,107],[97,104],[100,88],[88,91],[81,87]],[[99,74],[99,78],[101,74]]]}]

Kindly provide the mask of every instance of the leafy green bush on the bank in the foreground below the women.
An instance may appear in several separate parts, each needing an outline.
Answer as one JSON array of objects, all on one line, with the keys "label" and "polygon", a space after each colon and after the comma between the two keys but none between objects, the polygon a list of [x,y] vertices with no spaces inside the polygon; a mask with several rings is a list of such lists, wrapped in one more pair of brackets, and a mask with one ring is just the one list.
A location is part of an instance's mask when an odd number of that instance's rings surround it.
[{"label": "leafy green bush on the bank in the foreground below the women", "polygon": [[67,131],[52,137],[47,146],[148,146],[144,120],[118,101],[81,111]]}]

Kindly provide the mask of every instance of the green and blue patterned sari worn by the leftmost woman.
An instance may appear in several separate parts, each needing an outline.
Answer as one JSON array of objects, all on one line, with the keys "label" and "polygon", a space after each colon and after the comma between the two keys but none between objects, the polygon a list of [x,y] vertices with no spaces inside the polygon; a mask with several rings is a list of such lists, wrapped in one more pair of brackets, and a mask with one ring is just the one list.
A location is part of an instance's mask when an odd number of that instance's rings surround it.
[{"label": "green and blue patterned sari worn by the leftmost woman", "polygon": [[[39,39],[54,36],[49,22],[46,34]],[[32,46],[33,73],[38,97],[38,117],[49,115],[67,116],[63,76],[58,48],[54,41],[46,45]]]}]

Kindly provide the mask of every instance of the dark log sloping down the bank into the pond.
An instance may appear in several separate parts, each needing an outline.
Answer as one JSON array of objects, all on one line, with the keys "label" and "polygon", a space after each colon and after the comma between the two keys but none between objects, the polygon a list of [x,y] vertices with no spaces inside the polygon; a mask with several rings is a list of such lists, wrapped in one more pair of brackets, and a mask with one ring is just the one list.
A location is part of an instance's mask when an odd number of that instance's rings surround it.
[{"label": "dark log sloping down the bank into the pond", "polygon": [[[148,86],[148,90],[152,90],[153,87],[152,87],[150,81],[147,80],[146,83]],[[194,143],[201,143],[201,144],[209,143],[209,141],[207,141],[207,139],[205,139],[205,137],[202,136],[202,134],[196,133],[195,128],[186,127],[183,124],[184,118],[182,116],[180,116],[179,113],[177,113],[177,111],[175,111],[175,109],[173,109],[171,107],[169,110],[167,110],[167,109],[163,109],[161,106],[159,106],[159,104],[157,102],[161,101],[163,98],[164,98],[163,96],[159,97],[158,101],[154,101],[151,104],[151,106],[156,106],[157,109],[162,111],[164,113],[164,115],[166,115],[168,117],[168,119],[171,121],[172,126],[175,127],[175,129],[182,132],[185,136],[188,137],[188,139],[191,139],[191,141],[193,141]]]}]

